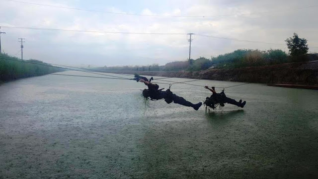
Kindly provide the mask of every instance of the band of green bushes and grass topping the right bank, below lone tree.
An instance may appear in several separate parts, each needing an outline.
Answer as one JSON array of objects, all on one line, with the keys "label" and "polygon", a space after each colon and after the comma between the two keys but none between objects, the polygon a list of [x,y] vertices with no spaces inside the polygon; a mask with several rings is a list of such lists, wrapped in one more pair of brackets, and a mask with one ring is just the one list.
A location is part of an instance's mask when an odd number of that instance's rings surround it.
[{"label": "band of green bushes and grass topping the right bank, below lone tree", "polygon": [[237,69],[244,67],[258,67],[267,65],[278,65],[291,62],[306,62],[318,60],[315,54],[307,54],[302,56],[289,56],[284,51],[276,50],[251,50],[239,49],[231,53],[211,57],[207,59],[200,57],[196,60],[190,59],[187,61],[170,62],[163,66],[150,65],[150,66],[122,66],[122,67],[100,67],[98,70],[104,71],[202,71],[209,68],[216,69]]}]

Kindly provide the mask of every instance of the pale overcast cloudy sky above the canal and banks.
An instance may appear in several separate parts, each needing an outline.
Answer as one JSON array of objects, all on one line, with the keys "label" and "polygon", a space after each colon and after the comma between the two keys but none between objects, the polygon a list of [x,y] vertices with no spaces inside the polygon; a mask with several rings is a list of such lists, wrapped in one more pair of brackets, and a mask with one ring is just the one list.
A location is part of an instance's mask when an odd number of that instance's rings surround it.
[{"label": "pale overcast cloudy sky above the canal and banks", "polygon": [[[318,47],[317,0],[21,0],[97,11],[145,15],[219,17],[154,17],[90,12],[0,0],[0,26],[89,31],[196,33],[285,44],[294,32]],[[315,6],[310,8],[300,8]],[[295,10],[295,8],[300,8]],[[294,10],[291,10],[294,9]],[[268,12],[270,13],[258,13]],[[246,14],[252,13],[252,14]],[[253,14],[256,13],[256,14]],[[186,60],[186,35],[84,33],[2,27],[2,51],[20,57],[18,38],[25,38],[24,59],[64,65],[164,65]],[[286,45],[251,43],[194,35],[191,58],[211,58],[237,49],[282,49]],[[318,52],[318,48],[310,48]]]}]

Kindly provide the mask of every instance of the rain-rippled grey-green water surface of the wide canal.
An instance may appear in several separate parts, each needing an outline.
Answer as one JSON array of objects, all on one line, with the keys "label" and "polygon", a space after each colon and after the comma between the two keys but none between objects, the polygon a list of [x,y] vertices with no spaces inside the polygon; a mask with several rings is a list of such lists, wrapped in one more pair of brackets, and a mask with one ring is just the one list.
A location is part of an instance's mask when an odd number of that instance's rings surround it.
[{"label": "rain-rippled grey-green water surface of the wide canal", "polygon": [[[244,108],[195,111],[145,104],[145,87],[54,75],[2,84],[0,179],[318,177],[317,90],[248,84],[226,89]],[[195,103],[211,95],[182,84],[171,91]]]}]

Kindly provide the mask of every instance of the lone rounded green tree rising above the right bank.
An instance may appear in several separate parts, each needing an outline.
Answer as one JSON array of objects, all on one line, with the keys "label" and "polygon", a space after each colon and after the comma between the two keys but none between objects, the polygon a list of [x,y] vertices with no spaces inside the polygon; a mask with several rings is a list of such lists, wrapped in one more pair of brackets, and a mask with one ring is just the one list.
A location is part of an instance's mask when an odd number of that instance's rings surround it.
[{"label": "lone rounded green tree rising above the right bank", "polygon": [[304,55],[308,52],[307,40],[299,38],[297,33],[285,40],[291,56]]}]

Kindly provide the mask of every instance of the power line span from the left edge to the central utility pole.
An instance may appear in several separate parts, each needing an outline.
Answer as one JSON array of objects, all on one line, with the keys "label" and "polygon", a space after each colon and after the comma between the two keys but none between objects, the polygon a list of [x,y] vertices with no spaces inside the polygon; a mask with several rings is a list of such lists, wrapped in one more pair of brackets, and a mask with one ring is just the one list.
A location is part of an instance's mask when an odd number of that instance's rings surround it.
[{"label": "power line span from the left edge to the central utility pole", "polygon": [[114,34],[142,34],[142,35],[186,35],[187,33],[147,33],[147,32],[111,32],[111,31],[96,31],[96,30],[70,30],[58,28],[40,28],[40,27],[17,27],[17,26],[1,26],[4,28],[14,29],[32,29],[32,30],[52,30],[52,31],[68,31],[68,32],[88,32],[88,33],[114,33]]}]

